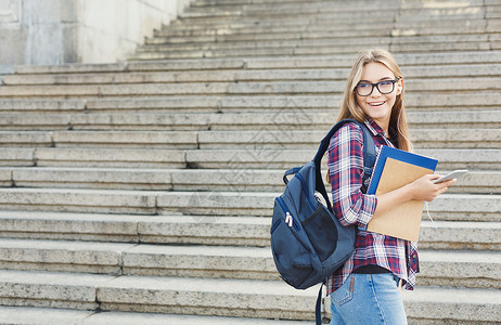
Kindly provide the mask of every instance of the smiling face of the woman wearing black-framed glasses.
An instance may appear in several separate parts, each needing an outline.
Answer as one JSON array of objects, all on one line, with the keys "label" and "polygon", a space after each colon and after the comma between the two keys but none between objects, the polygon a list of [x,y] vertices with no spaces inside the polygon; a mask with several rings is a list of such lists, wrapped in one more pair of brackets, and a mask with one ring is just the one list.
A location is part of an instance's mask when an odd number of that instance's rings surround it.
[{"label": "smiling face of the woman wearing black-framed glasses", "polygon": [[[384,80],[395,80],[396,77],[389,68],[378,62],[371,62],[363,67],[362,78],[359,83],[370,82],[377,83]],[[370,86],[369,86],[370,87]],[[395,83],[393,92],[383,94],[377,87],[374,87],[372,93],[367,96],[361,96],[357,92],[357,103],[363,109],[367,116],[372,118],[385,132],[388,134],[389,119],[391,108],[395,105],[397,95],[402,92],[403,79],[399,79]]]}]

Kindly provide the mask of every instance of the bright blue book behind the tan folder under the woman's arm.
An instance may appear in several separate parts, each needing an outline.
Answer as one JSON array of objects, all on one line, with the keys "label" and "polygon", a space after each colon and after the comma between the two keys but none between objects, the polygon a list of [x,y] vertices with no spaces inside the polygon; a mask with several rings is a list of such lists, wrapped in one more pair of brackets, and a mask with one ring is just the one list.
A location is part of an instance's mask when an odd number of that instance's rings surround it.
[{"label": "bright blue book behind the tan folder under the woman's arm", "polygon": [[435,171],[435,168],[438,164],[438,160],[436,159],[383,145],[381,147],[381,153],[377,156],[377,160],[374,165],[374,170],[372,171],[372,178],[371,182],[369,183],[367,194],[376,194],[377,185],[380,184],[381,176],[383,174],[383,169],[386,165],[387,158],[391,158],[418,167],[423,167],[432,171]]}]

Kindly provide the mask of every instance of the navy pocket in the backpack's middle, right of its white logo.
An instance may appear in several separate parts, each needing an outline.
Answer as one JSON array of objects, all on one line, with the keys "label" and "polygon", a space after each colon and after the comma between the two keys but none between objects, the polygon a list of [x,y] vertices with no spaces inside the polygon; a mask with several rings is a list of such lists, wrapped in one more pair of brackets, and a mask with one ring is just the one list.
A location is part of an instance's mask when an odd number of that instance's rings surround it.
[{"label": "navy pocket in the backpack's middle, right of its white logo", "polygon": [[325,261],[336,250],[337,227],[334,216],[325,206],[319,204],[317,210],[303,221],[303,229],[308,234],[321,262]]}]

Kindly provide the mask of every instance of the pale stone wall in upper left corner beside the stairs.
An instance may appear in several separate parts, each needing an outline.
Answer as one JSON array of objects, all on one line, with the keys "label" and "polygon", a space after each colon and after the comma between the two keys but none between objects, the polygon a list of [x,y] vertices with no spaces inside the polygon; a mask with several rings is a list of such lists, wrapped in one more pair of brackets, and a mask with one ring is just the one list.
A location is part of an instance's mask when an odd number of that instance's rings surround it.
[{"label": "pale stone wall in upper left corner beside the stairs", "polygon": [[0,65],[110,63],[190,0],[0,0]]}]

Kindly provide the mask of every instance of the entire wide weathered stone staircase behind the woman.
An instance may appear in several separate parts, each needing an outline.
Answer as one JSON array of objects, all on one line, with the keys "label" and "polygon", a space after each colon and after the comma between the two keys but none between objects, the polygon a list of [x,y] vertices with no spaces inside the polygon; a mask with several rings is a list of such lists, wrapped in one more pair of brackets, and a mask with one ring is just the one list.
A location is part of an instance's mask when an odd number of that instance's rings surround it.
[{"label": "entire wide weathered stone staircase behind the woman", "polygon": [[396,53],[416,151],[471,170],[423,214],[409,321],[500,323],[500,40],[494,0],[197,0],[126,63],[17,67],[0,324],[311,324],[318,288],[271,259],[273,199],[368,47]]}]

